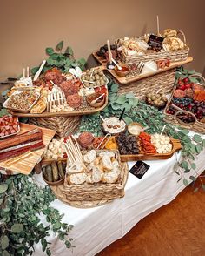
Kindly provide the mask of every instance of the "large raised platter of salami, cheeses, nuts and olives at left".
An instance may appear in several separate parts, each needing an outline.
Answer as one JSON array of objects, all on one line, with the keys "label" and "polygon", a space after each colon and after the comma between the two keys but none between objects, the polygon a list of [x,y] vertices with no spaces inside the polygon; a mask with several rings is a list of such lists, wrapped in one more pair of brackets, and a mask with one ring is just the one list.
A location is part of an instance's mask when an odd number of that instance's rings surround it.
[{"label": "large raised platter of salami, cheeses, nuts and olives at left", "polygon": [[[100,69],[85,71],[79,79],[53,68],[39,77],[34,86],[20,86],[16,82],[3,105],[21,117],[89,114],[106,106],[107,83],[108,78]],[[102,104],[90,104],[87,100],[91,95],[95,99],[95,93],[98,97],[103,94]]]}]

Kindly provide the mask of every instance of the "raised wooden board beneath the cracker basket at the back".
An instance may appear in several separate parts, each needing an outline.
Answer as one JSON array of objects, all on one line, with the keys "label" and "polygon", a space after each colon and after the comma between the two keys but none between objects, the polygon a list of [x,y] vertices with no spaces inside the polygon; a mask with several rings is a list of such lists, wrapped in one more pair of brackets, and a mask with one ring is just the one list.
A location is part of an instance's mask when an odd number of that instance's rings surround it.
[{"label": "raised wooden board beneath the cracker basket at the back", "polygon": [[[157,74],[160,74],[164,71],[169,71],[169,70],[172,70],[172,69],[175,69],[177,67],[180,67],[182,66],[183,64],[188,64],[190,62],[193,61],[193,57],[188,57],[186,60],[183,60],[183,61],[178,61],[178,62],[171,62],[169,67],[166,67],[164,68],[163,70],[159,70],[157,72],[150,72],[150,73],[146,73],[146,74],[142,74],[142,75],[138,75],[136,77],[119,77],[116,75],[116,72],[114,70],[108,70],[107,69],[107,61],[103,58],[103,57],[98,57],[96,55],[96,52],[93,53],[93,56],[96,58],[96,60],[102,64],[105,69],[107,71],[109,71],[109,73],[116,78],[117,82],[120,83],[120,84],[129,84],[129,83],[132,83],[132,82],[136,82],[136,81],[139,81],[139,80],[142,80],[143,78],[147,78],[147,77],[151,77],[151,76],[154,76],[154,75],[157,75]],[[122,62],[119,62],[119,64],[123,64]]]}]

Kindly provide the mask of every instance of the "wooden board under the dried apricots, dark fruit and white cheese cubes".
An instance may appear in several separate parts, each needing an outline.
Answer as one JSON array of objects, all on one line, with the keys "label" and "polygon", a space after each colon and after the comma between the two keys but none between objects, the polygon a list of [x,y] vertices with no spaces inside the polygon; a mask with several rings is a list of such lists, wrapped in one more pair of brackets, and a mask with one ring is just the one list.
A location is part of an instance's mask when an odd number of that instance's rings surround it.
[{"label": "wooden board under the dried apricots, dark fruit and white cheese cubes", "polygon": [[[164,154],[137,154],[137,155],[120,155],[122,162],[137,161],[137,160],[160,160],[160,159],[169,159],[173,156],[176,151],[182,149],[182,145],[179,139],[171,138],[170,139],[173,147],[172,151]],[[109,150],[108,150],[109,151]],[[67,158],[58,158],[57,160],[65,161]],[[42,160],[42,165],[49,165],[53,159],[44,159]]]}]

